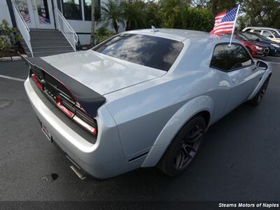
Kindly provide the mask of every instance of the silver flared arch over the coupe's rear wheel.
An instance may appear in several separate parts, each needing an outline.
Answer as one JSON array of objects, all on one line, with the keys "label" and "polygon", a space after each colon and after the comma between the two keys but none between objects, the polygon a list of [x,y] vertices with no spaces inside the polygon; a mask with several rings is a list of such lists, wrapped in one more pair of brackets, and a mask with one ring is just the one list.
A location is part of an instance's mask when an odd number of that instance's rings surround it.
[{"label": "silver flared arch over the coupe's rear wheel", "polygon": [[214,111],[214,101],[209,96],[200,96],[191,99],[170,118],[165,127],[162,129],[155,143],[151,147],[146,159],[141,167],[154,167],[158,164],[160,158],[167,150],[167,147],[172,142],[176,134],[181,130],[181,127],[185,125],[190,118],[197,115],[202,111],[208,111],[210,113],[210,119],[208,125],[211,124],[211,115]]}]

